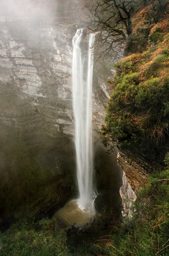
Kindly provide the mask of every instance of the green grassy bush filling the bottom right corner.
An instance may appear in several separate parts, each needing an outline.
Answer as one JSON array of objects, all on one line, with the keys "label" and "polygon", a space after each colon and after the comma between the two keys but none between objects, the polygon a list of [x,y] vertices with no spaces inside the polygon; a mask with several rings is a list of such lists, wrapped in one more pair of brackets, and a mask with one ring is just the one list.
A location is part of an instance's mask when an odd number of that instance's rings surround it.
[{"label": "green grassy bush filling the bottom right corner", "polygon": [[[98,242],[99,255],[169,255],[169,169],[149,176],[133,205],[132,218],[121,229]],[[103,239],[103,238],[101,238]],[[100,239],[100,240],[101,240]]]}]

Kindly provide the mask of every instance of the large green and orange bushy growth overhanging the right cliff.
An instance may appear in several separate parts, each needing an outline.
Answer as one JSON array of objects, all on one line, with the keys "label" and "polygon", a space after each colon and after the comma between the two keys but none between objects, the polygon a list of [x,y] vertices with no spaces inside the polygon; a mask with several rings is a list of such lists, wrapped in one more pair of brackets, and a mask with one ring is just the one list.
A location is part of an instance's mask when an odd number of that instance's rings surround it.
[{"label": "large green and orange bushy growth overhanging the right cliff", "polygon": [[168,17],[151,28],[148,38],[146,51],[115,64],[101,134],[106,146],[116,143],[145,155],[151,148],[152,155],[169,137]]}]

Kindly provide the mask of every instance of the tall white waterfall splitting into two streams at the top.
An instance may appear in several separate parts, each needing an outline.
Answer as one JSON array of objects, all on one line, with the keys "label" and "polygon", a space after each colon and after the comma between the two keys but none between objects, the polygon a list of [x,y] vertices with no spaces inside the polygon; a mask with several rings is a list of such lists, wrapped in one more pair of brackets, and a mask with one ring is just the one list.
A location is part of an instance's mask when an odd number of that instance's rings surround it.
[{"label": "tall white waterfall splitting into two streams at the top", "polygon": [[87,83],[83,79],[83,60],[80,43],[83,29],[73,37],[73,113],[75,118],[76,169],[79,188],[79,208],[93,206],[93,150],[92,150],[92,81],[93,44],[95,35],[90,34],[88,50]]}]

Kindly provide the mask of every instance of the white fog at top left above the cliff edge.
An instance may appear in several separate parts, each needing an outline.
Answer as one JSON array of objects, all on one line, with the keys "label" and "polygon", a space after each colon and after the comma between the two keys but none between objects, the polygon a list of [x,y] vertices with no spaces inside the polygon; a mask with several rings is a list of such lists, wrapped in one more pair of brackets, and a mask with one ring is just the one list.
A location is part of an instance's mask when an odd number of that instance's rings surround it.
[{"label": "white fog at top left above the cliff edge", "polygon": [[0,0],[0,21],[31,20],[36,25],[49,25],[57,20],[74,19],[79,0]]}]

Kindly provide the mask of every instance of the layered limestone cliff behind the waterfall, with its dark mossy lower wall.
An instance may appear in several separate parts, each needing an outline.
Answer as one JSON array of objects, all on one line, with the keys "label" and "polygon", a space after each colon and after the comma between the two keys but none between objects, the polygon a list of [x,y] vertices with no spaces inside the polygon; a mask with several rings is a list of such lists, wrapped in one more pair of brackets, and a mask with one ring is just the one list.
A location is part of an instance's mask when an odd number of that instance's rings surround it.
[{"label": "layered limestone cliff behind the waterfall, with its dark mossy lower wall", "polygon": [[[46,214],[77,196],[71,89],[76,28],[26,24],[0,24],[0,218]],[[94,73],[94,141],[109,97],[107,75],[100,74]]]}]

